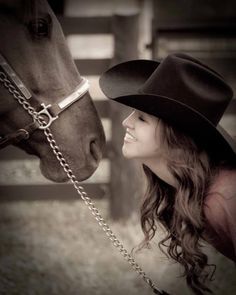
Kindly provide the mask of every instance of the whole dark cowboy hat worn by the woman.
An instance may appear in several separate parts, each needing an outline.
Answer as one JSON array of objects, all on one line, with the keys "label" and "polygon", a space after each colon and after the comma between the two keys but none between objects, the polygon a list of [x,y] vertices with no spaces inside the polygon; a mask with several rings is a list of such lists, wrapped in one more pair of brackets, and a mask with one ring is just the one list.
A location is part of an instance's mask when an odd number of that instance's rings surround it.
[{"label": "whole dark cowboy hat worn by the woman", "polygon": [[163,119],[217,158],[236,159],[234,140],[218,124],[233,91],[199,60],[183,53],[162,62],[131,60],[107,70],[99,82],[108,98]]}]

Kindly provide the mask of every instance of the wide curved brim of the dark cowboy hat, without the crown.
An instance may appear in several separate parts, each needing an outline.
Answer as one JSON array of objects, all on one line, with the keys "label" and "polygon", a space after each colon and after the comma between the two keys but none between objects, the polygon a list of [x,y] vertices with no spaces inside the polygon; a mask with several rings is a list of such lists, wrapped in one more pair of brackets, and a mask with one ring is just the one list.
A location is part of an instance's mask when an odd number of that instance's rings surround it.
[{"label": "wide curved brim of the dark cowboy hat, without the crown", "polygon": [[223,154],[236,160],[236,143],[220,125],[214,126],[199,112],[170,97],[139,92],[159,64],[151,60],[118,64],[101,76],[100,87],[109,99],[159,117],[188,133],[217,158]]}]

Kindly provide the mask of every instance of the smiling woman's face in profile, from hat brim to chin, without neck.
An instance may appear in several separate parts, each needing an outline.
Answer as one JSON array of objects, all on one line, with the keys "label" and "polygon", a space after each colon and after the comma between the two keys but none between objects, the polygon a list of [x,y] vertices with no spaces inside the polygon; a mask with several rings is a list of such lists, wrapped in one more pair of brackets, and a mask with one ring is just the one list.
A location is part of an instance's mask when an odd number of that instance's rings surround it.
[{"label": "smiling woman's face in profile, from hat brim to chin, without neck", "polygon": [[123,126],[126,134],[122,152],[126,158],[136,158],[147,164],[161,156],[160,120],[157,117],[134,110],[123,121]]}]

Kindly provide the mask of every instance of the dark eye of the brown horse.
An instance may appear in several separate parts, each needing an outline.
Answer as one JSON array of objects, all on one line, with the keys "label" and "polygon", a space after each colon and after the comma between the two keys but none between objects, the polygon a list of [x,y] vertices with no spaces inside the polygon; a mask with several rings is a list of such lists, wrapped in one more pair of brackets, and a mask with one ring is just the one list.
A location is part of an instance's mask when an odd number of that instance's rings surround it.
[{"label": "dark eye of the brown horse", "polygon": [[33,38],[43,39],[50,37],[51,18],[37,18],[28,23],[28,30]]}]

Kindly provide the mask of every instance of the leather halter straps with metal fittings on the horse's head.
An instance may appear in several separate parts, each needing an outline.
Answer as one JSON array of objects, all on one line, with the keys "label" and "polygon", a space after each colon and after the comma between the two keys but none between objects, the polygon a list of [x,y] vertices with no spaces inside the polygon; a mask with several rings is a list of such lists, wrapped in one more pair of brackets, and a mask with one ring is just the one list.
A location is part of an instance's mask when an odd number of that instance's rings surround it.
[{"label": "leather halter straps with metal fittings on the horse's head", "polygon": [[[13,84],[14,88],[20,93],[21,96],[25,100],[30,100],[32,98],[32,94],[28,90],[28,88],[21,81],[16,72],[12,69],[3,55],[0,53],[0,75],[7,76],[9,80],[10,87]],[[10,87],[6,88],[10,92]],[[20,128],[12,133],[9,133],[4,136],[0,136],[0,149],[10,145],[16,144],[21,140],[26,140],[30,137],[30,135],[37,129],[46,129],[50,127],[53,121],[58,119],[61,112],[66,110],[71,104],[78,101],[81,97],[83,97],[89,90],[89,82],[87,79],[82,78],[80,84],[76,87],[76,89],[67,97],[59,101],[58,103],[45,105],[42,103],[40,105],[41,110],[37,112],[37,116],[43,117],[45,124],[40,125],[37,121],[33,121],[32,123],[26,125],[23,128]]]}]

